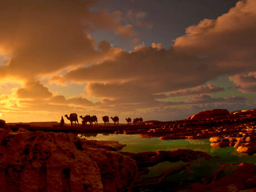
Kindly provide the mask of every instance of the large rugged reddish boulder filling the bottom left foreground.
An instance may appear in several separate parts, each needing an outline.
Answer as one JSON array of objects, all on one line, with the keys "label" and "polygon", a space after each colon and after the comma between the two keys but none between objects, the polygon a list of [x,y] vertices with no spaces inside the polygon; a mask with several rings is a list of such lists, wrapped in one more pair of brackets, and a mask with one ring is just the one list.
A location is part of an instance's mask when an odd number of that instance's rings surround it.
[{"label": "large rugged reddish boulder filling the bottom left foreground", "polygon": [[[117,143],[53,132],[0,132],[3,192],[124,191],[138,176],[136,162]],[[120,145],[117,145],[120,147]]]}]

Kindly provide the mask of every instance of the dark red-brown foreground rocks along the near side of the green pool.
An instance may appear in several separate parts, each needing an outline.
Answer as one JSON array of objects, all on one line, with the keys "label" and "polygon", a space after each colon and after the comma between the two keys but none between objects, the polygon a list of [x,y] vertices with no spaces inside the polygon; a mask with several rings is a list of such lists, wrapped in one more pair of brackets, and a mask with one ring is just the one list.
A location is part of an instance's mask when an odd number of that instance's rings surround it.
[{"label": "dark red-brown foreground rocks along the near side of the green pool", "polygon": [[[83,140],[73,134],[19,129],[0,132],[0,189],[13,191],[132,191],[159,185],[167,176],[193,171],[191,163],[211,157],[193,150],[119,152],[117,141]],[[164,161],[185,164],[160,175],[141,178],[148,167]],[[200,164],[198,164],[200,166]],[[256,164],[238,164],[234,173],[218,178],[226,166],[205,183],[193,184],[190,191],[255,191]],[[246,173],[246,174],[244,174]],[[235,178],[235,179],[234,179]],[[152,181],[154,179],[154,181]],[[213,189],[218,190],[213,190]]]}]

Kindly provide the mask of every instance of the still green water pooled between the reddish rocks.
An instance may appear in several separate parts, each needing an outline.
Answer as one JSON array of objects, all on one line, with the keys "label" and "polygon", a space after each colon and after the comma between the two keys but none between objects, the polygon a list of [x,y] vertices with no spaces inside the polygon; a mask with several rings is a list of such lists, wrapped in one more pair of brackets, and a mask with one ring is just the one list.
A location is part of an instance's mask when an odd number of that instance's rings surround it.
[{"label": "still green water pooled between the reddish rocks", "polygon": [[[160,186],[149,188],[139,188],[134,191],[139,192],[152,192],[152,191],[188,191],[189,184],[200,183],[202,178],[210,176],[221,168],[218,163],[256,163],[256,154],[243,155],[239,154],[234,147],[215,148],[210,146],[209,139],[200,140],[160,140],[159,138],[140,138],[138,135],[124,135],[124,134],[109,134],[97,136],[83,136],[91,140],[104,140],[104,141],[119,141],[126,146],[121,150],[125,152],[143,152],[143,151],[159,151],[159,150],[174,150],[174,149],[191,149],[195,151],[204,151],[211,156],[218,156],[218,158],[210,158],[209,160],[199,159],[198,162],[192,163],[189,167],[193,170],[193,174],[188,171],[180,171],[174,175],[168,176]],[[149,168],[151,176],[161,174],[172,168],[176,168],[185,164],[182,161],[170,163],[165,161]],[[228,175],[234,171],[235,166],[227,167],[222,176]]]}]

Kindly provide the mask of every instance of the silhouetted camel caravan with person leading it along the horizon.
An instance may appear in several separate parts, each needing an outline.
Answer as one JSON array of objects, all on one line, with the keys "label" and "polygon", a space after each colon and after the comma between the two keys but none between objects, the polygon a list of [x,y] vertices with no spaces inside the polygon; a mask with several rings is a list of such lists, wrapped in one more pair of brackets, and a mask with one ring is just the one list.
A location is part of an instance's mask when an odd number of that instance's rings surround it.
[{"label": "silhouetted camel caravan with person leading it along the horizon", "polygon": [[[75,122],[75,125],[77,123],[77,125],[79,125],[78,123],[78,115],[76,113],[72,113],[70,114],[70,116],[65,115],[66,119],[70,121],[71,126],[73,125],[73,122]],[[96,115],[85,115],[85,116],[79,116],[82,119],[82,126],[86,126],[87,122],[88,125],[98,125],[98,119]],[[113,121],[113,123],[116,125],[119,125],[119,117],[114,116],[114,117],[110,117],[111,120]],[[128,117],[125,119],[128,125],[138,125],[138,124],[142,124],[143,123],[143,119],[140,118],[136,118],[134,119],[133,122],[131,122],[131,117]],[[109,116],[103,116],[102,117],[102,121],[104,122],[104,126],[106,125],[110,125],[109,123]],[[61,122],[60,125],[63,126],[64,125],[64,119],[63,116],[61,117]]]}]

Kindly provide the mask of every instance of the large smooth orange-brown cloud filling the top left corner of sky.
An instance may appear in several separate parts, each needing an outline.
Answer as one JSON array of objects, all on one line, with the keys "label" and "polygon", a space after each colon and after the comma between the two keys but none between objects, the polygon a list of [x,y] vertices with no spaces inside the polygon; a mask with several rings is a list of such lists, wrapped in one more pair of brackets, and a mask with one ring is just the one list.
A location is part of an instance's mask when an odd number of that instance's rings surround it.
[{"label": "large smooth orange-brown cloud filling the top left corner of sky", "polygon": [[106,11],[91,11],[93,2],[1,1],[0,55],[8,65],[0,66],[0,78],[27,79],[101,60],[106,50],[95,49],[89,35],[95,30],[136,35],[130,24],[120,24]]}]

